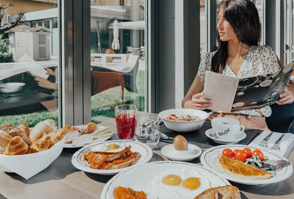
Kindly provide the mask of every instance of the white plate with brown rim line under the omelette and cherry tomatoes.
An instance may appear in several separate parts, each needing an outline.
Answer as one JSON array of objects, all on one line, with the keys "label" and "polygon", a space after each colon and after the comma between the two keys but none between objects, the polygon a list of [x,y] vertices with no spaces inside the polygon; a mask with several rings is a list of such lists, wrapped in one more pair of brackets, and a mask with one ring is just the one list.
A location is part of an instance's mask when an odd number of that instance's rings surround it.
[{"label": "white plate with brown rim line under the omelette and cherry tomatoes", "polygon": [[[255,147],[250,147],[247,145],[221,145],[217,147],[212,147],[207,149],[205,152],[203,152],[201,156],[201,163],[203,164],[204,167],[212,169],[217,171],[220,175],[222,175],[224,178],[227,180],[231,180],[233,182],[238,182],[240,184],[246,184],[246,185],[259,185],[259,184],[271,184],[275,182],[280,182],[282,180],[287,179],[289,176],[292,175],[293,172],[293,166],[292,164],[289,165],[288,167],[284,167],[281,169],[281,171],[277,172],[277,175],[275,177],[271,177],[269,179],[263,179],[263,180],[247,180],[247,179],[240,179],[240,178],[235,178],[232,177],[228,174],[225,174],[217,169],[217,167],[214,165],[214,161],[222,156],[222,152],[225,148],[229,148],[232,151],[235,149],[240,149],[243,150],[244,148],[250,148],[251,151],[253,152],[254,150],[258,149],[260,150],[264,156],[267,156],[269,160],[287,160],[281,155],[278,155],[276,153],[261,149],[261,148],[255,148]],[[288,161],[288,160],[287,160]]]}]

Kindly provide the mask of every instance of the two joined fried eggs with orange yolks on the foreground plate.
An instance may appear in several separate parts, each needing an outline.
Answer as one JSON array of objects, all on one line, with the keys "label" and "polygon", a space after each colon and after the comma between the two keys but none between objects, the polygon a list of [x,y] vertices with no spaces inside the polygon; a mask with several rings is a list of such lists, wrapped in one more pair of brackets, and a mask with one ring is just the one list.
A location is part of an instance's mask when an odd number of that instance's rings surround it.
[{"label": "two joined fried eggs with orange yolks on the foreground plate", "polygon": [[199,172],[188,168],[172,167],[153,176],[147,183],[145,190],[147,195],[153,198],[193,199],[202,193],[202,191],[209,188],[211,188],[209,180]]}]

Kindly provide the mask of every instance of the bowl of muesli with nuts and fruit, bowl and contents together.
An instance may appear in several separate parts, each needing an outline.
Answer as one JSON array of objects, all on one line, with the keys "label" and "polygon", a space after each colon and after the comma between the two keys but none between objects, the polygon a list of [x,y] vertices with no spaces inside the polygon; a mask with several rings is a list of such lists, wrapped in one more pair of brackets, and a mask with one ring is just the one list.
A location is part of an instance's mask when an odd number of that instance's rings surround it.
[{"label": "bowl of muesli with nuts and fruit, bowl and contents together", "polygon": [[190,132],[199,129],[209,117],[205,111],[179,108],[162,111],[158,114],[166,127],[178,132]]}]

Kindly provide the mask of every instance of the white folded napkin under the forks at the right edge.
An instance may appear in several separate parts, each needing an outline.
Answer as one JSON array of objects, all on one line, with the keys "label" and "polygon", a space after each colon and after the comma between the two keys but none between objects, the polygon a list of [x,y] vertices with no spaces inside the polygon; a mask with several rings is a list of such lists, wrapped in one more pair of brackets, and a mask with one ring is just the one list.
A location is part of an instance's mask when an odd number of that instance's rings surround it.
[{"label": "white folded napkin under the forks at the right edge", "polygon": [[[260,147],[257,143],[260,143],[263,141],[264,138],[266,138],[269,133],[271,133],[272,131],[268,131],[268,130],[264,130],[259,136],[257,136],[248,146],[252,146],[252,147],[257,147],[257,148],[262,148]],[[285,136],[282,138],[281,142],[280,142],[280,151],[277,150],[271,150],[269,148],[266,148],[267,150],[276,152],[278,154],[281,154],[282,156],[285,155],[288,147],[292,144],[292,142],[294,141],[294,134],[292,133],[277,133],[277,132],[273,132],[272,136],[269,138],[267,145],[269,146],[273,146],[275,144],[275,142],[283,135],[285,134]],[[262,148],[264,149],[264,148]]]}]

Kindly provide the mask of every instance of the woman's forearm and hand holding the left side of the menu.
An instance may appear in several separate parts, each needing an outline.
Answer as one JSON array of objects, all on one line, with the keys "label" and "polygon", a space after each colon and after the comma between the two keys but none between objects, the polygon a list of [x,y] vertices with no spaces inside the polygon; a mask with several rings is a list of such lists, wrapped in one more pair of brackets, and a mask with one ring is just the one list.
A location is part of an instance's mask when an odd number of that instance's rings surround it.
[{"label": "woman's forearm and hand holding the left side of the menu", "polygon": [[182,100],[183,108],[193,108],[198,110],[204,110],[213,105],[210,103],[210,99],[200,99],[204,94],[201,93],[204,89],[204,84],[199,79],[198,73],[187,92],[186,96]]}]

